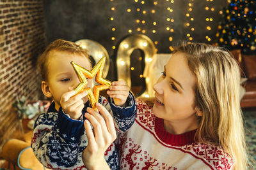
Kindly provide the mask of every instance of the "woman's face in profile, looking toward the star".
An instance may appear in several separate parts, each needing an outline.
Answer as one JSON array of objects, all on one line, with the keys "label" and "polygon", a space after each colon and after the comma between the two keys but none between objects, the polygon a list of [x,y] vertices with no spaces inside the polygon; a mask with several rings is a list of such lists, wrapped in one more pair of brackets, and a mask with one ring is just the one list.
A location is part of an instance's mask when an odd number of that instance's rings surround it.
[{"label": "woman's face in profile, looking toward the star", "polygon": [[196,121],[195,85],[196,77],[188,67],[185,53],[172,55],[163,75],[157,80],[153,113],[164,120],[182,123]]}]

